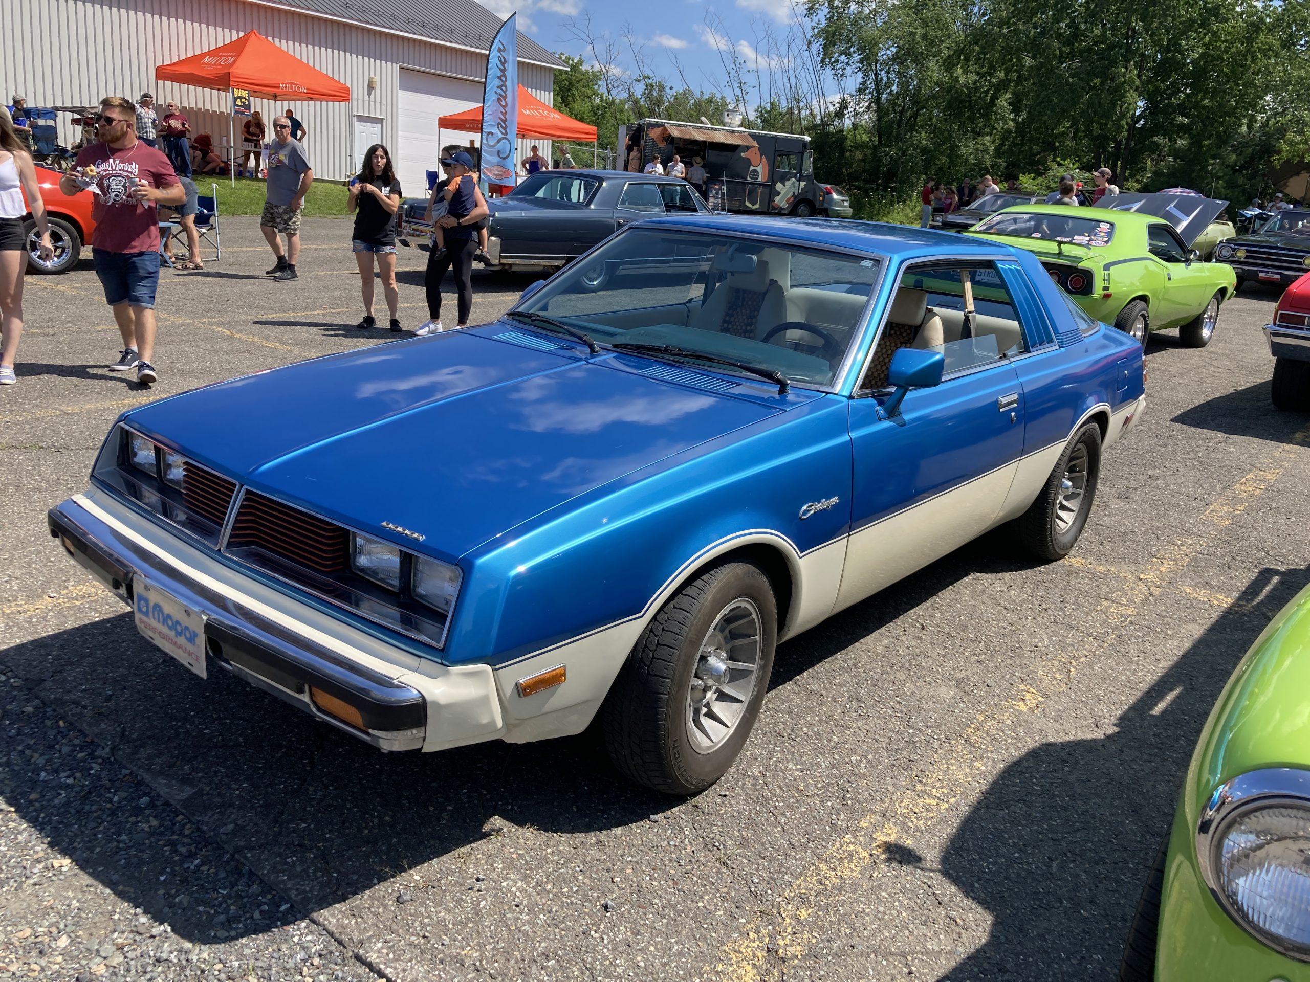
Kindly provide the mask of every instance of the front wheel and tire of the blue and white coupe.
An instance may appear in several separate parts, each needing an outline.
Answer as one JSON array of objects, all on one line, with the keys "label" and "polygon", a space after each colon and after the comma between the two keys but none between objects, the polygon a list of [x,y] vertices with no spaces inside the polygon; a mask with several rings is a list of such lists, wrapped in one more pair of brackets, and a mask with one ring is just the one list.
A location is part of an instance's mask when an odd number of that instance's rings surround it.
[{"label": "front wheel and tire of the blue and white coupe", "polygon": [[769,577],[752,563],[724,563],[684,587],[605,697],[614,766],[669,795],[694,795],[722,778],[768,691],[777,625]]}]

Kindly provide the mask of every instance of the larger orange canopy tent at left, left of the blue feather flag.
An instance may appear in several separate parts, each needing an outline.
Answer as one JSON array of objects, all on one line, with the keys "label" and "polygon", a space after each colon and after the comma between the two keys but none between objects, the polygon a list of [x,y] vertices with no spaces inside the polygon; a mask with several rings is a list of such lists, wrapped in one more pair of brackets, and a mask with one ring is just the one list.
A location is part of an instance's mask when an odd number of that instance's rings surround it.
[{"label": "larger orange canopy tent at left, left of the blue feather flag", "polygon": [[[282,102],[350,102],[348,85],[283,51],[257,30],[181,62],[161,64],[155,77],[202,89],[246,89],[252,97]],[[231,119],[228,141],[236,147]],[[234,173],[232,181],[236,183]]]}]

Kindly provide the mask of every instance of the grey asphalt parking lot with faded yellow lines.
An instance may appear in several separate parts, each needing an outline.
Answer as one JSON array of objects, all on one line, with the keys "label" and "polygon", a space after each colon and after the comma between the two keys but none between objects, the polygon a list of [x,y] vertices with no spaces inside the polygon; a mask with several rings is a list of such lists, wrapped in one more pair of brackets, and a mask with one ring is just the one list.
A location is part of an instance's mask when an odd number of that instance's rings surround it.
[{"label": "grey asphalt parking lot with faded yellow lines", "polygon": [[[782,646],[741,761],[684,801],[587,735],[388,757],[199,680],[48,537],[124,409],[396,336],[354,327],[345,223],[305,221],[300,280],[272,283],[254,221],[164,274],[149,390],[106,371],[89,263],[28,279],[0,390],[0,979],[1115,977],[1200,727],[1310,581],[1276,292],[1205,350],[1153,338],[1073,555],[993,533]],[[410,329],[424,258],[401,254]],[[477,322],[531,278],[474,280]]]}]

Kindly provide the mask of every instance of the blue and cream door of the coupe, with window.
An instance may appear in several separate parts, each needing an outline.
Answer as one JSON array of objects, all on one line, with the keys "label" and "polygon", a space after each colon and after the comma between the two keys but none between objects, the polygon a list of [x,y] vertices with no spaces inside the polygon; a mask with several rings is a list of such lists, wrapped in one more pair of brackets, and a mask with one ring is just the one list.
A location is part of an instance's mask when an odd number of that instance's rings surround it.
[{"label": "blue and cream door of the coupe, with window", "polygon": [[[960,272],[972,282],[972,304],[960,296],[963,278],[952,285]],[[1022,327],[994,263],[917,263],[901,272],[896,291],[910,301],[893,295],[850,402],[852,536],[838,608],[989,529],[1023,450],[1023,390],[1013,356],[1027,346],[1013,343]],[[918,308],[914,292],[926,295]],[[896,323],[901,308],[922,310],[920,322]],[[895,348],[905,346],[942,351],[947,368],[941,385],[910,390],[887,419],[891,390],[880,382]]]}]

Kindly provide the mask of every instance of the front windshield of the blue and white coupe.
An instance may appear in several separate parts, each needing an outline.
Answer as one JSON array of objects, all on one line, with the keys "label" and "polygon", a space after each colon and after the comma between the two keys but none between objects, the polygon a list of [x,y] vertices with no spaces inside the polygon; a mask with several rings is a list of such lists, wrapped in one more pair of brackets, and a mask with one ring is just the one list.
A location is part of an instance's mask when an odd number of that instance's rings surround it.
[{"label": "front windshield of the blue and white coupe", "polygon": [[635,227],[515,309],[601,344],[675,346],[821,386],[863,322],[878,270],[861,255]]}]

